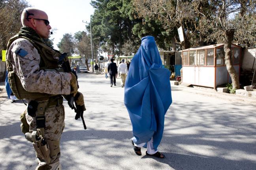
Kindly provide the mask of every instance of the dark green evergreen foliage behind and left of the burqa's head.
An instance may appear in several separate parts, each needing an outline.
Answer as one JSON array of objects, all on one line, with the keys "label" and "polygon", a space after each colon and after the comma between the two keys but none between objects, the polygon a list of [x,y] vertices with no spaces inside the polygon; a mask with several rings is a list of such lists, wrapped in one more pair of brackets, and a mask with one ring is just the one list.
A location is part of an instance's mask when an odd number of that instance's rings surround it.
[{"label": "dark green evergreen foliage behind and left of the burqa's head", "polygon": [[[133,2],[134,0],[91,1],[95,8],[91,21],[94,46],[98,45],[109,54],[123,55],[136,52],[141,37],[152,35],[160,49],[169,50],[173,30],[164,29],[163,23],[158,19],[138,18]],[[89,26],[87,30],[90,30]],[[127,42],[130,42],[130,47]]]}]

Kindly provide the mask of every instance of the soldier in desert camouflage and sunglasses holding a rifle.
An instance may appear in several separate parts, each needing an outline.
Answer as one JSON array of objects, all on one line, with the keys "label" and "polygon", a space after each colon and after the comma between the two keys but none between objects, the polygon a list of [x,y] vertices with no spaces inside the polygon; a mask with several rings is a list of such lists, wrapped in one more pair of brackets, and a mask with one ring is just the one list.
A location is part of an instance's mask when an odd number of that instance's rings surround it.
[{"label": "soldier in desert camouflage and sunglasses holding a rifle", "polygon": [[21,22],[23,27],[8,42],[6,61],[13,93],[28,101],[28,111],[21,114],[21,129],[26,139],[33,142],[38,158],[36,170],[61,170],[62,95],[72,94],[75,104],[85,110],[83,95],[77,92],[75,75],[58,70],[60,52],[42,40],[49,37],[51,30],[47,14],[26,8]]}]

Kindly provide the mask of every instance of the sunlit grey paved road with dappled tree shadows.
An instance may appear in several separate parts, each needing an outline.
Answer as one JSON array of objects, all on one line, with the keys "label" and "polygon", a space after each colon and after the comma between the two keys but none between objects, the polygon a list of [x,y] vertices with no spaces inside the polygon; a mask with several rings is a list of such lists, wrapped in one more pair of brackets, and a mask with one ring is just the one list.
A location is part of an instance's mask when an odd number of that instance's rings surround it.
[{"label": "sunlit grey paved road with dappled tree shadows", "polygon": [[[63,170],[255,170],[256,100],[172,86],[173,104],[159,150],[165,159],[135,155],[124,88],[104,75],[79,74],[87,111],[83,129],[66,101]],[[32,144],[20,130],[21,101],[0,97],[0,170],[34,170]]]}]

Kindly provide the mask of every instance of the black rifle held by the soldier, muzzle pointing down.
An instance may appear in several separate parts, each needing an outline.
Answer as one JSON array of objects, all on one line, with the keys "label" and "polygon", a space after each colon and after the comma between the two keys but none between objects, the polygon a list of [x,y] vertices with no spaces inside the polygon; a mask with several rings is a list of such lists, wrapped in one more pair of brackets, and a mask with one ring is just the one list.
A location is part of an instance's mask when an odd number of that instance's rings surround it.
[{"label": "black rifle held by the soldier, muzzle pointing down", "polygon": [[[68,55],[67,55],[66,52],[61,54],[61,56],[59,58],[59,61],[58,61],[58,64],[62,65],[62,69],[64,70],[64,72],[66,72],[66,73],[71,72],[77,78],[77,74],[75,73],[75,71],[71,70],[70,63],[68,61]],[[77,87],[79,88],[78,82],[77,82]],[[75,97],[78,97],[77,95],[79,95],[79,94],[77,93]],[[83,118],[83,111],[86,110],[85,106],[79,106],[79,105],[76,105],[76,104],[74,106],[75,97],[71,94],[70,95],[64,95],[64,98],[68,101],[68,105],[70,106],[70,108],[75,110],[75,113],[76,113],[75,120],[77,120],[78,118],[81,117],[81,119],[83,121],[84,129],[87,129],[87,127],[85,125],[85,120]]]}]

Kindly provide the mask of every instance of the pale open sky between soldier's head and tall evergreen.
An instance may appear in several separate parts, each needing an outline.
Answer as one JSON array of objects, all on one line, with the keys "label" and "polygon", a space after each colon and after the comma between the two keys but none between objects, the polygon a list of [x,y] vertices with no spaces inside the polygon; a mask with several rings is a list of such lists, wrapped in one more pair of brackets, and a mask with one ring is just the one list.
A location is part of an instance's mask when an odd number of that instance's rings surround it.
[{"label": "pale open sky between soldier's head and tall evergreen", "polygon": [[54,48],[66,33],[72,35],[78,31],[85,31],[86,23],[90,22],[94,8],[91,0],[26,0],[32,7],[45,11],[53,31],[50,39],[54,38]]}]

